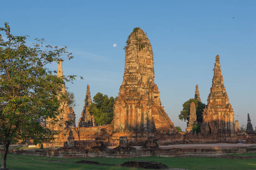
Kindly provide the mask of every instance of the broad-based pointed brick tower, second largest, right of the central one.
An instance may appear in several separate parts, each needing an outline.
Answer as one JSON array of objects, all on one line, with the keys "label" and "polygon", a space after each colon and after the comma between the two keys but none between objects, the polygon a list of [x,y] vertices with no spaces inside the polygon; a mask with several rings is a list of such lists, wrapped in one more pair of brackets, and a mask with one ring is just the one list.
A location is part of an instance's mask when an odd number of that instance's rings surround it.
[{"label": "broad-based pointed brick tower, second largest, right of the central one", "polygon": [[220,57],[215,58],[212,87],[207,99],[207,106],[203,111],[203,134],[233,135],[234,112],[228,100],[220,70]]}]

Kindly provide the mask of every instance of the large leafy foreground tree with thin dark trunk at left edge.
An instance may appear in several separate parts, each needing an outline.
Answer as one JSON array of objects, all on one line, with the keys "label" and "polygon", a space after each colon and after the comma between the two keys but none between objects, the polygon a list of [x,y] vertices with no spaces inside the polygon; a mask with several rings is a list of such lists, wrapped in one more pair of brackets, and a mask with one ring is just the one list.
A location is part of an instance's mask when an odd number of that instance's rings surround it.
[{"label": "large leafy foreground tree with thin dark trunk at left edge", "polygon": [[10,34],[5,23],[7,40],[0,35],[0,134],[3,136],[4,150],[1,168],[6,168],[8,148],[14,140],[33,140],[35,144],[51,141],[56,132],[43,126],[44,120],[59,123],[59,98],[64,80],[74,80],[75,76],[57,77],[47,68],[58,62],[63,55],[68,59],[72,53],[67,47],[44,45],[44,39],[35,39],[33,46],[26,45],[28,36]]}]

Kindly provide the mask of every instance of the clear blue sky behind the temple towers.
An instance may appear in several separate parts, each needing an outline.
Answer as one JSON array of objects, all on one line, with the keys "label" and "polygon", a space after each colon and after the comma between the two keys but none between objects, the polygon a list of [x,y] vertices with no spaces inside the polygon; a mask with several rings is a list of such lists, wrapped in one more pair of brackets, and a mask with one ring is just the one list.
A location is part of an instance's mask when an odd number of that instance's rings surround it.
[{"label": "clear blue sky behind the temple towers", "polygon": [[[155,83],[161,103],[175,126],[182,104],[199,85],[202,102],[212,85],[215,56],[220,55],[224,85],[235,120],[256,126],[256,1],[2,1],[0,27],[9,22],[14,35],[45,38],[64,46],[74,59],[63,62],[66,75],[83,76],[67,84],[74,92],[78,122],[87,84],[91,96],[117,96],[123,81],[123,47],[140,27],[154,53]],[[116,43],[117,47],[113,47]],[[57,68],[57,64],[52,68]]]}]

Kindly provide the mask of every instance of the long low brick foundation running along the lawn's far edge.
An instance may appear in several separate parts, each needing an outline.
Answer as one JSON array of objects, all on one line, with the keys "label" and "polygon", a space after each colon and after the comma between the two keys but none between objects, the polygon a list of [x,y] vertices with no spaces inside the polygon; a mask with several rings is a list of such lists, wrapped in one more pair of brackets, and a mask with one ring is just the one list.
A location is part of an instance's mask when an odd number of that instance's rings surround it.
[{"label": "long low brick foundation running along the lawn's far edge", "polygon": [[[233,145],[233,144],[232,144]],[[256,145],[256,144],[251,144]],[[130,148],[130,149],[129,149]],[[129,147],[126,148],[107,148],[100,149],[76,149],[76,148],[59,148],[47,150],[9,150],[11,154],[45,156],[55,158],[84,158],[84,157],[106,157],[106,158],[131,158],[146,156],[214,156],[230,153],[256,153],[256,148],[248,146],[185,146],[178,145],[159,146],[159,148],[142,148]],[[131,149],[132,148],[132,149]],[[3,150],[0,150],[3,152]]]}]

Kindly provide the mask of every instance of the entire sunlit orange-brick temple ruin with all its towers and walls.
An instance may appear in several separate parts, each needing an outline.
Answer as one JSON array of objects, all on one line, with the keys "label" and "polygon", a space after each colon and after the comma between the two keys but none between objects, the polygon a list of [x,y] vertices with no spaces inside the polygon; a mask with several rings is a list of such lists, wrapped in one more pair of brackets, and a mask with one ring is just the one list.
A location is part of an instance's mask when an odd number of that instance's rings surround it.
[{"label": "entire sunlit orange-brick temple ruin with all its towers and walls", "polygon": [[[192,102],[189,108],[187,133],[179,133],[161,106],[160,92],[154,83],[154,60],[150,41],[141,28],[135,28],[127,40],[125,47],[125,70],[118,98],[114,104],[111,124],[97,126],[93,116],[88,112],[92,103],[90,87],[87,85],[84,108],[78,127],[66,126],[54,139],[55,145],[69,145],[74,153],[84,152],[81,148],[90,149],[91,153],[105,146],[120,146],[113,152],[123,149],[136,150],[130,146],[158,148],[158,145],[190,144],[190,143],[237,143],[256,141],[256,135],[235,133],[233,109],[225,92],[223,76],[220,70],[220,58],[215,58],[212,87],[203,111],[203,122],[197,122],[196,106]],[[59,62],[58,76],[62,74],[62,62]],[[63,88],[62,90],[65,90]],[[195,99],[201,101],[196,85]],[[72,117],[71,107],[64,117]],[[69,115],[69,116],[68,116]],[[67,120],[73,120],[74,116]],[[201,133],[195,133],[195,125],[201,125]],[[248,123],[251,120],[248,118]],[[236,128],[238,122],[236,123]],[[250,128],[250,126],[247,126]],[[252,129],[252,125],[251,125]],[[194,132],[194,133],[193,133]],[[252,130],[248,130],[252,132]],[[69,134],[70,138],[67,138]],[[73,139],[74,138],[74,139]],[[125,147],[126,146],[126,147]],[[130,147],[130,148],[129,148]],[[72,149],[73,148],[73,149]],[[74,149],[75,148],[75,149]],[[150,150],[151,150],[150,149]],[[106,151],[102,151],[103,153]],[[112,151],[111,151],[112,152]],[[122,151],[123,152],[123,151]]]}]

